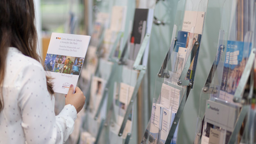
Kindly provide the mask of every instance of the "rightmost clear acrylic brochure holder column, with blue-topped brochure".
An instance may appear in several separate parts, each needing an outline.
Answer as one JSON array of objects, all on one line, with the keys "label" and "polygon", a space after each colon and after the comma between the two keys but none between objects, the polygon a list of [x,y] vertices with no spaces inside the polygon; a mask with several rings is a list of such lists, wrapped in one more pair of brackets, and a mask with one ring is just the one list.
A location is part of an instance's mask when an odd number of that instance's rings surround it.
[{"label": "rightmost clear acrylic brochure holder column, with blue-topped brochure", "polygon": [[[194,144],[251,144],[256,15],[241,11],[237,0],[221,2],[217,54],[200,94]],[[249,1],[243,4],[254,7]]]}]

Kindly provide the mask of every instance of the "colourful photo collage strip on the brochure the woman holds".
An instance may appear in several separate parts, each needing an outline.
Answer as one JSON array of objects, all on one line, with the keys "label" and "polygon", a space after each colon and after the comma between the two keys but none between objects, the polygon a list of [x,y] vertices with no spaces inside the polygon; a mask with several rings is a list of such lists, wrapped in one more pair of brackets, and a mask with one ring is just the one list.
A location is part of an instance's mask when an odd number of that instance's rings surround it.
[{"label": "colourful photo collage strip on the brochure the woman holds", "polygon": [[46,54],[44,69],[55,73],[79,75],[82,69],[84,58],[65,55]]}]

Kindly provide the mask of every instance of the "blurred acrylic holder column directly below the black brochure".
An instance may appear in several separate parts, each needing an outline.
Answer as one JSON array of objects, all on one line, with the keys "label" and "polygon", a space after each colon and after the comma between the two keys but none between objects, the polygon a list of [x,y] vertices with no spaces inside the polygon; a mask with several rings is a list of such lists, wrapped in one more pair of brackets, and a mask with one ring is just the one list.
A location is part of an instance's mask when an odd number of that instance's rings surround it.
[{"label": "blurred acrylic holder column directly below the black brochure", "polygon": [[[137,142],[137,93],[148,60],[148,49],[151,25],[153,23],[153,10],[148,10],[147,24],[139,51],[131,53],[130,41],[121,53],[118,63],[122,66],[121,78],[115,82],[114,95],[110,113],[106,119],[109,126],[110,144],[129,144]],[[142,35],[141,35],[142,36]],[[129,56],[135,57],[130,60]]]}]

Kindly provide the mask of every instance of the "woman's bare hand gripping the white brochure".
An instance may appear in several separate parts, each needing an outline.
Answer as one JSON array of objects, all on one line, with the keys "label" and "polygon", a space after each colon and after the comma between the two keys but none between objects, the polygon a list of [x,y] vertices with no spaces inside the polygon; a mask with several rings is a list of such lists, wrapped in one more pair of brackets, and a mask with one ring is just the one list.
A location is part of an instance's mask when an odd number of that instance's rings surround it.
[{"label": "woman's bare hand gripping the white brochure", "polygon": [[81,109],[83,108],[83,105],[85,104],[85,96],[83,95],[83,92],[79,87],[76,86],[75,93],[74,92],[74,86],[73,84],[70,85],[70,89],[65,95],[65,105],[71,104],[76,108],[76,112],[79,113]]}]

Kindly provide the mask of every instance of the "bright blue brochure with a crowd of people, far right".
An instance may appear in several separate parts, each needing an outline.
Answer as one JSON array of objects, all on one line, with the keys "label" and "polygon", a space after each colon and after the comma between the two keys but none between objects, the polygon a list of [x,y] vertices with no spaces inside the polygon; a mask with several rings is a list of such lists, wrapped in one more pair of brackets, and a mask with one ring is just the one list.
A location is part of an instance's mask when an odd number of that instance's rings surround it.
[{"label": "bright blue brochure with a crowd of people, far right", "polygon": [[233,97],[245,69],[252,43],[228,41],[220,86],[220,98],[233,102]]}]

